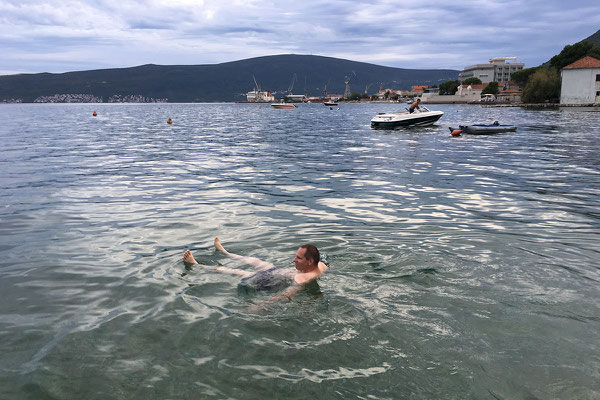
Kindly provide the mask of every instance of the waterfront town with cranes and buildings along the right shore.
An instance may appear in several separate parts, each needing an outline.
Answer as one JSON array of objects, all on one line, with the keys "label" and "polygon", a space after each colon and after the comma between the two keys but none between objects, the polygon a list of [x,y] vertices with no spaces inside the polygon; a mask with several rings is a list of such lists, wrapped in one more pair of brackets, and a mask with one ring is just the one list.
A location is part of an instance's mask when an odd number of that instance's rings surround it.
[{"label": "waterfront town with cranes and buildings along the right shore", "polygon": [[[581,54],[594,51],[592,44],[577,43],[565,47]],[[563,50],[563,52],[565,52]],[[583,52],[582,52],[583,50]],[[562,55],[563,53],[561,53]],[[595,54],[595,53],[592,53]],[[560,56],[552,60],[560,60]],[[558,61],[557,61],[558,62]],[[513,74],[524,71],[525,65],[517,60],[517,57],[491,58],[488,63],[475,64],[465,67],[458,75],[458,80],[447,81],[439,86],[413,85],[410,90],[380,87],[375,94],[369,95],[351,93],[350,80],[346,81],[346,92],[342,94],[328,94],[325,90],[322,97],[308,97],[305,95],[285,95],[281,101],[290,103],[313,103],[328,101],[379,101],[379,102],[405,102],[420,98],[422,103],[428,104],[506,104],[523,105],[523,89],[529,81],[529,77],[539,72],[545,75],[542,79],[548,82],[540,84],[539,93],[529,93],[526,103],[535,103],[537,106],[561,105],[561,106],[599,106],[600,105],[600,59],[592,56],[584,56],[575,62],[560,66],[560,78],[553,76],[552,69],[543,67],[530,68],[526,74],[520,76],[519,82],[515,82]],[[554,74],[558,74],[555,71]],[[255,80],[256,83],[256,80]],[[538,85],[538,86],[540,86]],[[533,92],[535,89],[530,90]],[[256,83],[253,91],[247,93],[248,102],[274,102],[275,97],[268,91],[261,91]],[[534,100],[534,101],[531,101]]]}]

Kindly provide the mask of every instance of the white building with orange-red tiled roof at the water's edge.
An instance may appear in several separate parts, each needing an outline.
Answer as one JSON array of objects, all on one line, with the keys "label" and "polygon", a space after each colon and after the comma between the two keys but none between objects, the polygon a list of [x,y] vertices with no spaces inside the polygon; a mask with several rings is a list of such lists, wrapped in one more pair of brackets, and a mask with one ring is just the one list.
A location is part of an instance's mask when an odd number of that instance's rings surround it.
[{"label": "white building with orange-red tiled roof at the water's edge", "polygon": [[584,57],[560,71],[561,105],[600,104],[600,60]]}]

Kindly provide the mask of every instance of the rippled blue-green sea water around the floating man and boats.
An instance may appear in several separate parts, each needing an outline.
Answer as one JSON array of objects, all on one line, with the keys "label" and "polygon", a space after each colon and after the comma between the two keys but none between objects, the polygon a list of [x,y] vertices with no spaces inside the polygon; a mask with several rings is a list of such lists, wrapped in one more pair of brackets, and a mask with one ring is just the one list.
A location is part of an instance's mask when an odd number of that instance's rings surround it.
[{"label": "rippled blue-green sea water around the floating man and boats", "polygon": [[[600,398],[600,113],[399,108],[0,106],[0,398]],[[249,312],[217,235],[322,295]]]}]

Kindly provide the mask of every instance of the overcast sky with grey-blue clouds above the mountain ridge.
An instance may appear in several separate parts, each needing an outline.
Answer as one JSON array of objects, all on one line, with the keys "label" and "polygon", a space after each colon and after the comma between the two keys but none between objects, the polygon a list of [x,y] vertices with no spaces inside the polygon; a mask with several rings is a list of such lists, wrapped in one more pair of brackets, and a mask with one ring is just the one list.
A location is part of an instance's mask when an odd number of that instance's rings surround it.
[{"label": "overcast sky with grey-blue clouds above the mountain ridge", "polygon": [[537,66],[600,0],[0,0],[0,74],[314,54],[416,69]]}]

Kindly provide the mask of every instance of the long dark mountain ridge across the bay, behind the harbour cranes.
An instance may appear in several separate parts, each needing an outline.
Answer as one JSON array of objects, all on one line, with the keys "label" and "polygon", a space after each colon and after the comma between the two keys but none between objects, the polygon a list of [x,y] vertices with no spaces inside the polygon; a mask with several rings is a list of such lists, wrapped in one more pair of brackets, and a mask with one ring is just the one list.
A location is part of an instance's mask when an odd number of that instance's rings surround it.
[{"label": "long dark mountain ridge across the bay, behind the harbour cranes", "polygon": [[[53,98],[62,102],[85,99],[108,102],[138,101],[216,102],[245,101],[254,88],[253,76],[263,90],[283,96],[293,75],[293,92],[321,96],[343,94],[345,77],[352,92],[375,93],[380,86],[410,89],[412,85],[439,85],[458,77],[458,70],[417,70],[313,55],[274,55],[206,65],[154,65],[61,74],[0,76],[0,102],[34,102]],[[55,96],[59,95],[59,96]],[[74,95],[69,97],[68,95]],[[83,95],[83,96],[82,96]],[[66,96],[66,97],[65,97]],[[77,97],[79,96],[79,97]],[[41,100],[40,100],[41,99]],[[126,101],[126,100],[125,100]]]}]

